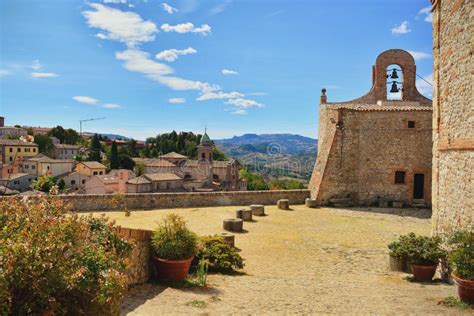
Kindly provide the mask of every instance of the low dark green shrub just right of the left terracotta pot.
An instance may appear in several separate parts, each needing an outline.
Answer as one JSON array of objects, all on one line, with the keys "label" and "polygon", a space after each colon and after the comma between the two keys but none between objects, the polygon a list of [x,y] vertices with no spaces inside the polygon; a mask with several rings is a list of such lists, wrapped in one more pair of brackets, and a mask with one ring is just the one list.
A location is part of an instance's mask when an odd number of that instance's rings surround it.
[{"label": "low dark green shrub just right of the left terracotta pot", "polygon": [[232,272],[244,267],[244,260],[236,249],[219,236],[201,237],[196,257],[208,263],[209,271]]}]

